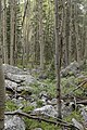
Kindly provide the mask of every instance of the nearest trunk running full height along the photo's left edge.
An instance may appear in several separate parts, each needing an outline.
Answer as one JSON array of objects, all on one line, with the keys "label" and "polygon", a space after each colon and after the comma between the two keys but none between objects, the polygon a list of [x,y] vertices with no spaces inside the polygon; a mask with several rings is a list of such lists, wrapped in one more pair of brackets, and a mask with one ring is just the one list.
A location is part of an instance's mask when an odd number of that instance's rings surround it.
[{"label": "nearest trunk running full height along the photo's left edge", "polygon": [[4,130],[4,77],[2,72],[1,49],[1,0],[0,0],[0,130]]}]

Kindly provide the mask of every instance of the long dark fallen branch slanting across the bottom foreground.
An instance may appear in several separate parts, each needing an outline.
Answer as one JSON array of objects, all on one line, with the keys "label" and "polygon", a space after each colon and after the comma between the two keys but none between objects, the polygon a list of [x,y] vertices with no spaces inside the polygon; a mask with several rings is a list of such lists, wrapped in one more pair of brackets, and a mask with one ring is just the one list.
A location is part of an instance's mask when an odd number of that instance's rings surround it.
[{"label": "long dark fallen branch slanting across the bottom foreground", "polygon": [[45,118],[41,118],[41,117],[32,116],[32,115],[28,115],[26,113],[18,112],[18,110],[5,112],[4,115],[18,115],[18,116],[27,117],[29,119],[35,119],[35,120],[38,120],[38,121],[45,121],[45,122],[52,123],[52,125],[64,126],[64,127],[71,128],[71,129],[75,128],[76,130],[79,130],[78,128],[76,128],[72,123],[67,123],[67,122],[63,121],[62,119],[58,119],[58,121],[53,121],[53,120],[48,120],[48,119],[45,119]]}]

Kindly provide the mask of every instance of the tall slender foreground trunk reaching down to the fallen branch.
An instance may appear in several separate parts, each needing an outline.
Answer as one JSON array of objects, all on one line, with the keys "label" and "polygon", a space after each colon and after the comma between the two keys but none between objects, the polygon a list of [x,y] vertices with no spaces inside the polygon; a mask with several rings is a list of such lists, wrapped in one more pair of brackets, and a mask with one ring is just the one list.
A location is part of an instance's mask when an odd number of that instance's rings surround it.
[{"label": "tall slender foreground trunk reaching down to the fallen branch", "polygon": [[58,105],[58,117],[61,116],[61,87],[60,87],[60,70],[61,70],[61,0],[54,0],[54,12],[55,12],[55,74],[57,74],[57,105]]}]

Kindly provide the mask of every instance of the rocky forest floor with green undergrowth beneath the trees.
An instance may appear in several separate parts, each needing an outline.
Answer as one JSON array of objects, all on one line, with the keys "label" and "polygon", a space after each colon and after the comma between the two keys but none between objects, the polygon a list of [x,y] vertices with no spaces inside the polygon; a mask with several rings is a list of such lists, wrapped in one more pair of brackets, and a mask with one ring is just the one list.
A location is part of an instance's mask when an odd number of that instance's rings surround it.
[{"label": "rocky forest floor with green undergrowth beneath the trees", "polygon": [[[74,65],[73,65],[74,66]],[[74,123],[77,121],[83,128],[87,129],[87,68],[79,69],[78,66],[70,69],[71,66],[61,72],[61,102],[62,102],[62,118],[63,121]],[[12,79],[12,76],[7,76],[7,79],[13,82],[18,82],[17,90],[11,87],[7,88],[5,112],[21,109],[23,113],[37,115],[47,119],[54,119],[57,116],[57,92],[54,74],[49,76],[39,76],[37,69],[33,69],[32,76],[27,82]],[[9,72],[10,74],[10,72]],[[12,74],[13,75],[13,74]],[[23,74],[24,76],[25,74]],[[27,76],[29,76],[28,74]],[[15,77],[15,76],[14,76]],[[23,77],[25,78],[25,77]],[[33,79],[34,78],[34,79]],[[26,79],[26,78],[25,78]],[[24,80],[25,80],[24,79]],[[32,80],[32,81],[29,81]],[[16,86],[17,87],[17,86]],[[23,89],[25,87],[26,89]],[[28,89],[27,89],[28,88]],[[15,90],[15,92],[13,92]],[[50,109],[51,108],[51,109]],[[50,117],[49,117],[49,116]],[[41,120],[33,120],[23,118],[26,130],[62,130],[61,126],[47,123]],[[64,128],[70,130],[70,128]]]}]

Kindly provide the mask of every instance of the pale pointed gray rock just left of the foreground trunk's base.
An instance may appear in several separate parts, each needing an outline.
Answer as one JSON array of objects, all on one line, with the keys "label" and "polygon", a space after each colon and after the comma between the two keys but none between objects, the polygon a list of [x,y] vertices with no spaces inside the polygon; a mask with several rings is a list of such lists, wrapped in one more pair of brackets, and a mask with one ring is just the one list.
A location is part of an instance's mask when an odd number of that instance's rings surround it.
[{"label": "pale pointed gray rock just left of the foreground trunk's base", "polygon": [[33,114],[46,115],[46,116],[52,116],[52,117],[57,116],[57,112],[52,105],[46,105],[41,108],[36,108],[33,110]]}]

